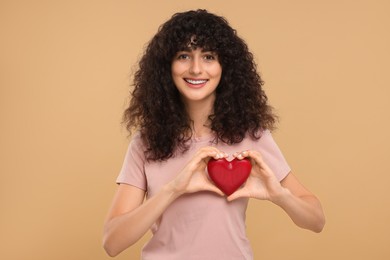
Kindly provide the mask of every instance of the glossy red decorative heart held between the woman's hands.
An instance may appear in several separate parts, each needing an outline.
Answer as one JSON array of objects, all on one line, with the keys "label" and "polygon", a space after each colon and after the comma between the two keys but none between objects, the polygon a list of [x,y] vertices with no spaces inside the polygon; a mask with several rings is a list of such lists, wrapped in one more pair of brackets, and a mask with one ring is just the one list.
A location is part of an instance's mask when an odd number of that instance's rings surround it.
[{"label": "glossy red decorative heart held between the woman's hands", "polygon": [[246,158],[242,160],[225,158],[211,159],[207,164],[207,171],[214,184],[227,196],[235,192],[248,179],[252,164]]}]

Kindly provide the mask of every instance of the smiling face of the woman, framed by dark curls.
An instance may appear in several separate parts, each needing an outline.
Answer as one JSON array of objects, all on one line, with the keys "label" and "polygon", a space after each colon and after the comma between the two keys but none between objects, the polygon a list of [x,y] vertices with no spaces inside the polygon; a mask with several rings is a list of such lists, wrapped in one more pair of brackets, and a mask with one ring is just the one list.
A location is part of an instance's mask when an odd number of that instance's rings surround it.
[{"label": "smiling face of the woman, framed by dark curls", "polygon": [[201,48],[179,51],[172,61],[172,78],[186,103],[215,100],[222,67],[214,52]]}]

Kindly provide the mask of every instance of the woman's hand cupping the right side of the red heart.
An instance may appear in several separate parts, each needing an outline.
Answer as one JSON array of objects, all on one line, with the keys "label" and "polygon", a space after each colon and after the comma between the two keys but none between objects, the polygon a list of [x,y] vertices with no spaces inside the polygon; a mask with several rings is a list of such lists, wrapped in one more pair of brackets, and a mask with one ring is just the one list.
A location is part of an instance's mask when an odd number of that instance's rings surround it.
[{"label": "woman's hand cupping the right side of the red heart", "polygon": [[239,160],[250,159],[252,170],[244,186],[227,198],[229,201],[241,197],[272,201],[283,192],[284,188],[259,152],[248,150],[233,156]]}]

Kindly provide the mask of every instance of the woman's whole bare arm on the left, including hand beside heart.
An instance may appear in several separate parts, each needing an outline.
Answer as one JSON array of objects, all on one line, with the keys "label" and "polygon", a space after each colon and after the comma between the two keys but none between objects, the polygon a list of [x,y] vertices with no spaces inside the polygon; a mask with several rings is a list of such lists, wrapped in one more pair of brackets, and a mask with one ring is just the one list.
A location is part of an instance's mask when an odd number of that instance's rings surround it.
[{"label": "woman's whole bare arm on the left, including hand beside heart", "polygon": [[108,255],[116,256],[137,242],[182,194],[209,190],[223,195],[208,180],[205,168],[210,157],[224,156],[214,147],[200,149],[175,179],[145,202],[144,190],[119,185],[104,225],[103,247]]}]

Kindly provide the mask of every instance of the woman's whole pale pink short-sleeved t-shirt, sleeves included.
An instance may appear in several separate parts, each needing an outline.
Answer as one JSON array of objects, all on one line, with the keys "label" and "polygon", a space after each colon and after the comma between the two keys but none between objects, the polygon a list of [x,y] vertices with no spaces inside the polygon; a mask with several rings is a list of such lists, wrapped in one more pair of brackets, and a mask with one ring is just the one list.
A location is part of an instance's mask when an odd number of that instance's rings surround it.
[{"label": "woman's whole pale pink short-sleeved t-shirt, sleeves included", "polygon": [[[213,137],[194,138],[190,149],[164,162],[145,160],[145,147],[139,135],[129,145],[117,183],[133,185],[154,196],[204,146],[215,146],[228,154],[259,151],[264,161],[282,180],[290,167],[269,131],[259,140],[245,138],[241,143],[213,143]],[[246,236],[247,198],[228,202],[212,192],[183,195],[174,201],[151,227],[153,236],[142,250],[143,260],[248,260],[253,259]]]}]

